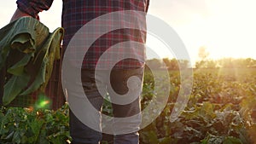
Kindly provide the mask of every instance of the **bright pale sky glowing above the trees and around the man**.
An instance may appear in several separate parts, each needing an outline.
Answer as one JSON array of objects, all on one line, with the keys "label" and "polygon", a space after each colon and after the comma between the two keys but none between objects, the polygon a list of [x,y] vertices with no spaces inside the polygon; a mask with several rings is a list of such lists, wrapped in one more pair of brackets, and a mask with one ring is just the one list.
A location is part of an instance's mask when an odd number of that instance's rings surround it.
[{"label": "bright pale sky glowing above the trees and around the man", "polygon": [[[50,31],[61,26],[61,3],[55,0],[48,11],[39,14]],[[148,14],[166,21],[177,32],[192,62],[200,60],[198,50],[202,46],[210,59],[256,59],[255,5],[254,0],[150,0]],[[0,27],[9,23],[15,9],[15,0],[0,5]],[[174,56],[154,36],[148,36],[147,45],[160,58]]]}]

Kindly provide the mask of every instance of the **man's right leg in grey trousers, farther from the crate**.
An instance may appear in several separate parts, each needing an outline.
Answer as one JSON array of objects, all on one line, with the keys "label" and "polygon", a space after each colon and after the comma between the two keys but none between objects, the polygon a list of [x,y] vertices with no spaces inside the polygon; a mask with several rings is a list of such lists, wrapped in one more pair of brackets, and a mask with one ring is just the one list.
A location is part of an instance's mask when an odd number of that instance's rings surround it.
[{"label": "man's right leg in grey trousers, farther from the crate", "polygon": [[[111,72],[111,84],[113,90],[119,95],[125,95],[128,92],[127,80],[131,76],[137,76],[143,82],[143,68],[139,69],[128,69],[128,70],[113,70]],[[141,84],[142,85],[142,84]],[[132,89],[131,89],[132,90]],[[134,116],[141,112],[140,98],[136,95],[137,99],[132,101],[127,105],[113,104],[113,116],[114,118],[126,118]],[[114,98],[113,98],[114,99]],[[139,135],[137,130],[139,130],[139,125],[141,124],[141,115],[137,115],[132,121],[124,122],[122,120],[116,120],[113,122],[113,129],[125,129],[131,130],[129,134],[115,135],[114,144],[138,144]],[[120,127],[115,127],[120,125]]]}]

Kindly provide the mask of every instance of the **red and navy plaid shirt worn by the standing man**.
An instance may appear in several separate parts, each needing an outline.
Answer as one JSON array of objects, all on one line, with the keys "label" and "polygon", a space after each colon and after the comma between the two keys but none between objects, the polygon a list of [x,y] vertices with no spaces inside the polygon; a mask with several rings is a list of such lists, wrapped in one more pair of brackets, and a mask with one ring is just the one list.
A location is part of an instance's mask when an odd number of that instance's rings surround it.
[{"label": "red and navy plaid shirt worn by the standing man", "polygon": [[[49,9],[53,0],[17,0],[18,8],[31,14],[33,17],[37,17],[38,13]],[[62,9],[62,27],[64,27],[66,33],[63,40],[63,47],[67,48],[67,44],[73,37],[73,35],[79,31],[79,28],[84,26],[90,20],[96,19],[102,14],[108,14],[121,10],[137,10],[142,12],[148,11],[149,0],[63,0]],[[138,20],[142,20],[139,17]],[[144,20],[144,19],[143,19]],[[129,22],[129,21],[128,21]],[[138,23],[134,23],[134,20],[130,21],[130,24],[136,26]],[[108,22],[111,24],[111,20]],[[106,24],[106,25],[108,25]],[[84,56],[83,67],[88,69],[94,69],[97,61],[101,55],[111,46],[117,43],[126,41],[136,41],[139,43],[146,42],[146,32],[142,32],[136,29],[119,29],[113,32],[108,32],[102,37],[98,38],[87,51]],[[79,52],[73,48],[73,51],[77,54]],[[133,53],[140,57],[139,60],[125,59],[119,61],[115,68],[138,68],[142,67],[145,62],[145,47],[125,49],[120,48],[114,51],[115,55],[127,55],[127,53]],[[111,59],[111,58],[110,58]],[[75,55],[74,55],[75,60]],[[108,67],[109,61],[106,60],[105,66]]]}]

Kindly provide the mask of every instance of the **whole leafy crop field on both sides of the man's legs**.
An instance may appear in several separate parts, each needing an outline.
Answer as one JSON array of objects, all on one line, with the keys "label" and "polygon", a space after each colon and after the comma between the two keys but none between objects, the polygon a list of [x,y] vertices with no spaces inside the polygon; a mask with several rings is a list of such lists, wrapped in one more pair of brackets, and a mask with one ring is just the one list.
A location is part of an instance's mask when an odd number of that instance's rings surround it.
[{"label": "whole leafy crop field on both sides of the man's legs", "polygon": [[[189,102],[175,120],[170,116],[179,92],[179,72],[169,71],[169,78],[170,81],[166,81],[163,76],[159,85],[160,88],[171,86],[166,107],[153,123],[140,130],[141,144],[256,143],[256,68],[194,69]],[[154,76],[146,71],[142,108],[161,95],[154,93]],[[111,115],[108,101],[103,112]],[[111,135],[104,135],[102,143],[112,143],[109,137]],[[55,112],[20,107],[0,110],[1,144],[70,141],[67,105]]]}]

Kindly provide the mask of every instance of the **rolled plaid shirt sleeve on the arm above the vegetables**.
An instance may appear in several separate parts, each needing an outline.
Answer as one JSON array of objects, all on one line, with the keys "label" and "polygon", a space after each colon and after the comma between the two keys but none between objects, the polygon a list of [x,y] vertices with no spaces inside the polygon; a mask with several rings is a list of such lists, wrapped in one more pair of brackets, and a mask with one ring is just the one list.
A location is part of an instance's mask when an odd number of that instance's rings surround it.
[{"label": "rolled plaid shirt sleeve on the arm above the vegetables", "polygon": [[36,18],[38,13],[48,10],[54,0],[17,0],[18,9]]}]

